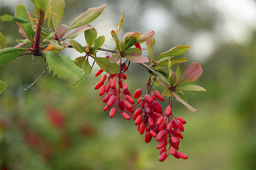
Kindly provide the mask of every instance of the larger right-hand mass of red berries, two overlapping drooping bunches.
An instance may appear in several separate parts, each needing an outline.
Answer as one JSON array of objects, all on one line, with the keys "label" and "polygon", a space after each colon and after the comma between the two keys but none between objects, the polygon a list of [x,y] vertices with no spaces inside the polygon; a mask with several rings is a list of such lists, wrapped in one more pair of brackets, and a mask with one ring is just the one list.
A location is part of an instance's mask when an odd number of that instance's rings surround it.
[{"label": "larger right-hand mass of red berries, two overlapping drooping bunches", "polygon": [[[139,98],[137,110],[134,112],[133,119],[137,125],[140,134],[145,133],[145,142],[151,141],[152,137],[156,138],[158,144],[157,149],[160,149],[159,161],[164,161],[171,154],[175,158],[188,159],[181,152],[178,152],[180,139],[183,139],[183,125],[186,121],[180,117],[175,117],[172,114],[172,96],[169,98],[169,105],[166,107],[165,113],[161,104],[157,101],[163,101],[164,98],[159,91],[152,89],[149,95],[148,86],[147,94],[141,97],[142,88],[134,92],[134,98]],[[167,154],[169,151],[169,154]]]}]

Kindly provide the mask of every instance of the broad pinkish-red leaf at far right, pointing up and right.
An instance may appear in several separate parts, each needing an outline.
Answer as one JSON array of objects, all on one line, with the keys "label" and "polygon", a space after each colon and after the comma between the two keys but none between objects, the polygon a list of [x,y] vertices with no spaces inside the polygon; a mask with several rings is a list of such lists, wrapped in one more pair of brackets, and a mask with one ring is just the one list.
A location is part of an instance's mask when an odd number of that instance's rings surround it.
[{"label": "broad pinkish-red leaf at far right, pointing up and right", "polygon": [[198,62],[191,63],[180,75],[179,80],[176,85],[185,85],[191,82],[195,82],[201,74],[203,73],[203,69],[201,68]]}]

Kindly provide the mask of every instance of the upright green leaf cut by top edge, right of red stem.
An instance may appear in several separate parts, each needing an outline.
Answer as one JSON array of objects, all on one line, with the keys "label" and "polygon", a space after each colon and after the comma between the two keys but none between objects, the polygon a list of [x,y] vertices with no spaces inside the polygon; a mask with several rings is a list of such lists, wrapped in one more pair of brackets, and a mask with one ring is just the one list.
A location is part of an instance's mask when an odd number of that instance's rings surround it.
[{"label": "upright green leaf cut by top edge, right of red stem", "polygon": [[[40,1],[40,0],[37,0]],[[48,26],[52,31],[58,31],[65,7],[64,0],[51,0],[49,4]]]}]

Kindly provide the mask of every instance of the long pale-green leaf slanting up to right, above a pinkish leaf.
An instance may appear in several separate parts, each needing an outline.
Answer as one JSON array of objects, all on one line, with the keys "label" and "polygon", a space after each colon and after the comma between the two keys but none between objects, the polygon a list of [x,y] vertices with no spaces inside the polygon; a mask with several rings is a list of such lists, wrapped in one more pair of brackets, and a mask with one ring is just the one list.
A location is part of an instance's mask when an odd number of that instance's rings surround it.
[{"label": "long pale-green leaf slanting up to right, above a pinkish leaf", "polygon": [[95,20],[99,15],[102,13],[102,11],[105,9],[105,5],[96,7],[96,8],[89,8],[87,11],[85,11],[83,14],[80,14],[78,17],[76,17],[72,23],[69,25],[68,30],[77,28],[79,26],[83,26],[87,23],[92,22]]}]

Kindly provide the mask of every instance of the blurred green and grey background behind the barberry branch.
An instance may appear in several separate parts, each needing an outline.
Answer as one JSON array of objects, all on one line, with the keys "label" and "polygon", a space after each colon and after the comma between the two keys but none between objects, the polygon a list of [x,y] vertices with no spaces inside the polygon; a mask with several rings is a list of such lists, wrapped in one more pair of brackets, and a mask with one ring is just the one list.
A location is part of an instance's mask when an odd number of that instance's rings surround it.
[{"label": "blurred green and grey background behind the barberry branch", "polygon": [[[29,0],[0,0],[0,15],[14,14],[18,3],[33,11]],[[97,66],[68,91],[75,80],[58,79],[46,71],[38,83],[17,96],[44,68],[43,61],[34,65],[39,58],[32,61],[28,55],[0,71],[0,79],[8,85],[0,95],[0,168],[256,169],[256,1],[66,0],[62,23],[69,25],[88,8],[105,3],[102,15],[90,25],[98,36],[105,35],[108,48],[114,48],[110,31],[117,27],[120,9],[125,14],[120,39],[125,32],[154,30],[155,57],[176,45],[192,47],[183,54],[188,62],[180,67],[184,70],[199,62],[204,72],[193,84],[207,92],[186,93],[195,113],[177,102],[172,108],[175,116],[186,119],[179,151],[189,159],[170,156],[159,162],[157,142],[146,144],[134,120],[121,115],[109,118],[102,97],[94,90],[100,79],[94,76]],[[23,39],[14,22],[1,21],[0,31],[8,41],[6,47]],[[86,45],[83,34],[75,40]],[[81,56],[73,49],[61,53],[72,59]],[[104,57],[105,52],[98,56]],[[127,77],[133,93],[149,74],[132,63]]]}]

